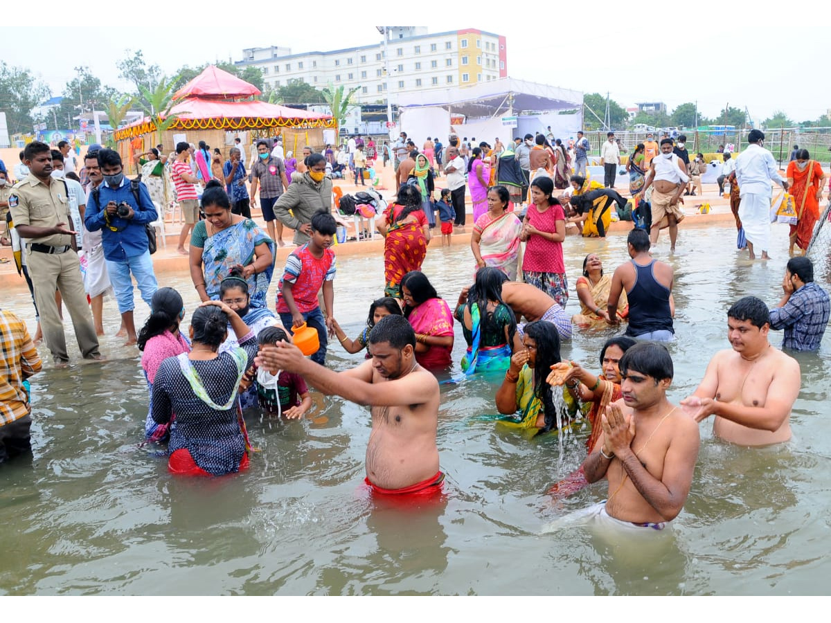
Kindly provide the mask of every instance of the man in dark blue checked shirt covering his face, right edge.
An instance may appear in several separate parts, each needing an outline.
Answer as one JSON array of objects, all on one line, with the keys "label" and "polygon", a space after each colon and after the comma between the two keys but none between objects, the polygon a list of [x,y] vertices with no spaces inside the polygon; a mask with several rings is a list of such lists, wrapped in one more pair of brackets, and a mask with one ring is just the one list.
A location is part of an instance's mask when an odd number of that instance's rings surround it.
[{"label": "man in dark blue checked shirt covering his face, right edge", "polygon": [[814,283],[814,263],[790,258],[782,281],[784,296],[770,310],[770,328],[784,329],[783,348],[816,351],[829,323],[828,292]]}]

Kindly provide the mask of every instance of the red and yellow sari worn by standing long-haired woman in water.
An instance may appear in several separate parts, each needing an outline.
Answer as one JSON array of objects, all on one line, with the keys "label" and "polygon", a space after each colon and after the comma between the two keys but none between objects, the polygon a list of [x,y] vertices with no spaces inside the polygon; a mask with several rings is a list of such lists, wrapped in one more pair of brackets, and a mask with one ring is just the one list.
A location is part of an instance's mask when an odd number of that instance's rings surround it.
[{"label": "red and yellow sari worn by standing long-haired woman in water", "polygon": [[421,262],[427,255],[427,238],[423,227],[427,217],[423,210],[416,210],[410,216],[396,223],[395,218],[404,210],[399,204],[390,204],[384,212],[387,224],[384,238],[384,294],[401,298],[401,279],[411,271],[420,271]]}]

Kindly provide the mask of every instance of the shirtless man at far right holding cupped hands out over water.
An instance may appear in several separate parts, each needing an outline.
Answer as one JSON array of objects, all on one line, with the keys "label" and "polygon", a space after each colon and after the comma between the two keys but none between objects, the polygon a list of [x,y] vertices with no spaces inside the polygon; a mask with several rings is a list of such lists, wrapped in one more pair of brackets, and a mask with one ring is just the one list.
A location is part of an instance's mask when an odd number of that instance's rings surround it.
[{"label": "shirtless man at far right holding cupped hands out over water", "polygon": [[719,351],[681,406],[696,422],[715,415],[713,433],[732,444],[760,446],[790,439],[790,410],[799,395],[799,363],[768,341],[770,312],[744,297],[727,311],[732,350]]}]

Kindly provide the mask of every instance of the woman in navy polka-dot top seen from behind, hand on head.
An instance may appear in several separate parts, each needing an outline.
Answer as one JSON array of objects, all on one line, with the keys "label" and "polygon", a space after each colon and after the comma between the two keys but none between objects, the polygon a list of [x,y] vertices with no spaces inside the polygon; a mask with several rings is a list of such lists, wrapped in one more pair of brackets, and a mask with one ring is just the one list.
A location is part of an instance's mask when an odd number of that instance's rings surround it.
[{"label": "woman in navy polka-dot top seen from behind, hand on head", "polygon": [[[229,321],[239,346],[220,353]],[[153,419],[167,424],[176,415],[168,469],[200,476],[238,472],[248,467],[250,449],[238,388],[257,355],[257,337],[224,302],[205,301],[190,319],[190,340],[190,353],[163,361],[153,384]]]}]

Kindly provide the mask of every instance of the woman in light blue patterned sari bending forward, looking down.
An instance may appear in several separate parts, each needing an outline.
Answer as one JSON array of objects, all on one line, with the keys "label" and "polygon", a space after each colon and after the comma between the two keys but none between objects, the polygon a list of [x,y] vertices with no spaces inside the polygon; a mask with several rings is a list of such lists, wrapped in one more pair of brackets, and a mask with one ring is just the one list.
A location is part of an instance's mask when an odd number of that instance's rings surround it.
[{"label": "woman in light blue patterned sari bending forward, looking down", "polygon": [[252,307],[267,307],[274,272],[274,243],[250,218],[231,213],[222,184],[212,180],[202,195],[205,218],[190,238],[190,278],[202,301],[219,299],[219,286],[234,267],[241,267]]}]

